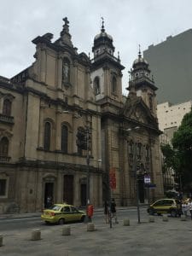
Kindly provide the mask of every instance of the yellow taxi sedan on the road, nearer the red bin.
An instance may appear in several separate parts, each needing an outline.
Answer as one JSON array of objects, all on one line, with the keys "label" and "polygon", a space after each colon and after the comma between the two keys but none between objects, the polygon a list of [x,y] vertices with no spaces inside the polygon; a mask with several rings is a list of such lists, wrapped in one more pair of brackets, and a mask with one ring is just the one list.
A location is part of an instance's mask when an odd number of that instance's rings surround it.
[{"label": "yellow taxi sedan on the road, nearer the red bin", "polygon": [[44,209],[41,219],[48,223],[64,224],[67,222],[84,221],[86,213],[77,207],[67,204],[55,204],[49,209]]}]

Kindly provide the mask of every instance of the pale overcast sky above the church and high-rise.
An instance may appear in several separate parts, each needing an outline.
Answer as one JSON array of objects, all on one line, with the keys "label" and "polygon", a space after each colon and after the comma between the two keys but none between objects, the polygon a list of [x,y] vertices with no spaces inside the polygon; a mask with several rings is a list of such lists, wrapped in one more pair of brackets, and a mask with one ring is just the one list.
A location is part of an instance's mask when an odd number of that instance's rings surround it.
[{"label": "pale overcast sky above the church and high-rise", "polygon": [[[60,37],[64,17],[78,52],[91,49],[101,30],[113,37],[114,55],[120,55],[123,93],[128,71],[141,51],[192,28],[191,0],[0,0],[0,76],[11,78],[35,61],[32,39],[46,32]],[[150,64],[150,63],[149,63]]]}]

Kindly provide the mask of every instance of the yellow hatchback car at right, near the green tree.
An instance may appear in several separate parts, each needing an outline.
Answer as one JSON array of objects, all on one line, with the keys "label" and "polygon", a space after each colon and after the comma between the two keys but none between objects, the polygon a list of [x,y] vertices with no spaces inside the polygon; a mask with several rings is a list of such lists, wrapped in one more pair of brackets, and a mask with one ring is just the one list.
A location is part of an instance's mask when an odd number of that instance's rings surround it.
[{"label": "yellow hatchback car at right, near the green tree", "polygon": [[177,199],[160,199],[154,201],[154,203],[148,207],[147,211],[150,215],[154,213],[158,215],[168,213],[171,214],[172,217],[177,217],[181,215],[181,203]]}]

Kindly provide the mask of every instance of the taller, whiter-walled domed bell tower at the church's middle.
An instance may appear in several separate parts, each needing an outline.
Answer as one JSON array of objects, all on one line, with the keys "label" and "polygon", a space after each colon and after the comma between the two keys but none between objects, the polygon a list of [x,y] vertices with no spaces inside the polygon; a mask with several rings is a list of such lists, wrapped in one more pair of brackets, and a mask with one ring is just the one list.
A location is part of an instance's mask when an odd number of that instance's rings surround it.
[{"label": "taller, whiter-walled domed bell tower at the church's middle", "polygon": [[125,67],[120,64],[119,53],[118,57],[113,55],[113,38],[105,31],[103,18],[101,32],[94,38],[92,52],[94,58],[91,60],[90,77],[96,102],[106,97],[121,102],[121,71]]}]

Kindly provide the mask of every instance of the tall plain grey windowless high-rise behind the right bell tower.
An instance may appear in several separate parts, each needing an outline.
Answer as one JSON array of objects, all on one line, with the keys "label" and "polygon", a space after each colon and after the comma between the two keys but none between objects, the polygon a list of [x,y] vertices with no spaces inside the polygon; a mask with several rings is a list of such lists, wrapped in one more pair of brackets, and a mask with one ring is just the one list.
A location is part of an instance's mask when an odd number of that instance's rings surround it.
[{"label": "tall plain grey windowless high-rise behind the right bell tower", "polygon": [[157,101],[177,104],[192,99],[192,29],[169,36],[160,44],[152,44],[143,51],[150,63],[155,83],[158,84]]}]

